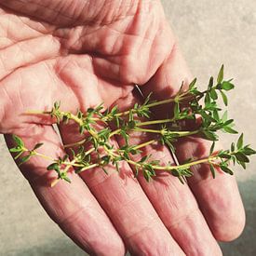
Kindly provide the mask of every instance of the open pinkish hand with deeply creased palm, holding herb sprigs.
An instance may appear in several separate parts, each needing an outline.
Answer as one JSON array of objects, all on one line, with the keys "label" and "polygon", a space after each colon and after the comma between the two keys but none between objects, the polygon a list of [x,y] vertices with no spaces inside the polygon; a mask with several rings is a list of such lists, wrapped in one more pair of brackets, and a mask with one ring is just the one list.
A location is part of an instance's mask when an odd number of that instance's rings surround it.
[{"label": "open pinkish hand with deeply creased palm, holding herb sprigs", "polygon": [[[54,101],[72,112],[102,101],[127,109],[139,100],[135,84],[165,99],[192,78],[159,1],[0,0],[0,36],[0,133],[8,146],[11,133],[28,147],[44,142],[41,153],[52,157],[64,154],[52,120],[26,111],[49,110]],[[79,140],[74,125],[60,130],[64,143]],[[182,140],[177,157],[202,157],[208,148]],[[163,146],[145,152],[171,160]],[[212,180],[207,166],[194,169],[188,185],[165,174],[137,181],[124,164],[120,175],[96,168],[50,188],[49,163],[35,157],[21,171],[49,216],[91,254],[221,255],[216,240],[230,241],[244,227],[235,179],[219,172]]]}]

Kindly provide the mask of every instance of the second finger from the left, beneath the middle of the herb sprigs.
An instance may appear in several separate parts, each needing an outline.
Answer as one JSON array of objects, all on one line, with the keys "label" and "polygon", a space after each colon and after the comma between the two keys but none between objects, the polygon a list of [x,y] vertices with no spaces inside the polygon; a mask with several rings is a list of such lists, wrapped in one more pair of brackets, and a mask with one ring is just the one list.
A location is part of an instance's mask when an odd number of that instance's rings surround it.
[{"label": "second finger from the left, beneath the middle of the herb sprigs", "polygon": [[[61,124],[64,144],[80,141],[76,125]],[[115,141],[112,143],[116,146]],[[128,250],[135,255],[183,255],[165,228],[140,184],[133,178],[126,162],[118,173],[114,167],[89,169],[81,173],[82,179],[100,202],[115,228],[122,236]]]}]

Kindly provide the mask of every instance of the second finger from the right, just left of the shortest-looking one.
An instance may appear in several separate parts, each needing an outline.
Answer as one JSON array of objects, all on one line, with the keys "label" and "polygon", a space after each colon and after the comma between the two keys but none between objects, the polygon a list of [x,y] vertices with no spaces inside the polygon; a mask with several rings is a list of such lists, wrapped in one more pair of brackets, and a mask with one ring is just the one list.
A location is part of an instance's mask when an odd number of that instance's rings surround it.
[{"label": "second finger from the right, just left of the shortest-looking one", "polygon": [[[117,101],[117,105],[121,107],[121,111],[126,111],[135,102],[138,102],[138,99],[131,96],[125,101]],[[154,140],[155,136],[136,131],[131,132],[129,138],[130,145],[140,145]],[[120,136],[117,136],[117,141],[120,146],[126,143]],[[168,148],[160,142],[142,147],[141,154],[130,155],[130,157],[133,161],[139,162],[144,155],[152,155],[149,161],[160,159],[161,165],[168,165],[168,162],[172,160]],[[141,172],[138,180],[169,233],[186,255],[222,254],[187,184],[182,184],[167,172],[159,171],[151,182],[146,182]]]}]

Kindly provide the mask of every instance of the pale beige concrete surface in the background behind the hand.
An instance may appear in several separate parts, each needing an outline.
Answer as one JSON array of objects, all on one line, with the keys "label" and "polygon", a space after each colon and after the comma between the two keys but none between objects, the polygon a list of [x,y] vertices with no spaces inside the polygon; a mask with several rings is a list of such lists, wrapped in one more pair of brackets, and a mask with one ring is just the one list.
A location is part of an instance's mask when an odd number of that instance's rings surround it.
[{"label": "pale beige concrete surface in the background behind the hand", "polygon": [[[164,0],[168,20],[185,59],[201,83],[207,83],[222,63],[235,77],[230,116],[247,141],[256,147],[256,4],[254,0]],[[245,115],[245,113],[247,113]],[[224,144],[229,141],[223,138]],[[65,237],[39,206],[28,183],[14,166],[0,140],[0,255],[85,255]],[[256,159],[246,171],[236,171],[247,225],[236,241],[222,244],[224,255],[256,255]],[[15,182],[13,182],[15,181]]]}]

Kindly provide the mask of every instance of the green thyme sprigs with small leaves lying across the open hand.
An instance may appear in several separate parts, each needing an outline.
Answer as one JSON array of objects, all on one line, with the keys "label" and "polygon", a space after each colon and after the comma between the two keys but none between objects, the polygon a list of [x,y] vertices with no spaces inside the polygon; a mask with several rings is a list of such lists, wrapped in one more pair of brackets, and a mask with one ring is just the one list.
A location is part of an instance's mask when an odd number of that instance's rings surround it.
[{"label": "green thyme sprigs with small leaves lying across the open hand", "polygon": [[[215,169],[233,175],[229,167],[230,162],[246,168],[249,163],[249,156],[256,154],[249,145],[244,145],[243,134],[237,142],[232,142],[230,149],[214,151],[215,141],[219,140],[217,132],[222,130],[226,133],[236,134],[234,120],[229,119],[227,112],[222,112],[218,104],[218,98],[222,98],[225,106],[228,104],[226,92],[235,88],[232,79],[223,79],[223,65],[218,74],[216,82],[213,77],[209,78],[209,84],[206,90],[200,91],[196,88],[196,79],[194,79],[188,88],[183,84],[178,93],[165,101],[152,101],[149,95],[142,104],[135,103],[128,111],[121,112],[118,106],[104,110],[103,104],[95,108],[89,108],[86,113],[78,110],[76,114],[61,111],[61,102],[55,102],[52,109],[48,112],[32,112],[31,114],[50,115],[55,118],[57,123],[74,122],[77,124],[80,134],[85,134],[86,138],[72,144],[65,145],[72,152],[70,155],[64,155],[54,159],[47,155],[40,154],[37,150],[43,143],[34,145],[33,149],[27,149],[24,142],[16,135],[13,135],[15,146],[10,152],[16,153],[16,159],[19,159],[20,165],[29,161],[31,157],[40,156],[52,161],[47,167],[50,171],[57,173],[56,180],[52,183],[64,180],[71,182],[68,177],[68,171],[71,167],[76,173],[86,171],[90,168],[100,167],[107,174],[106,166],[113,165],[119,171],[121,161],[126,161],[135,169],[135,177],[139,172],[143,173],[144,178],[149,182],[157,175],[157,170],[167,171],[169,174],[177,177],[182,183],[186,177],[191,177],[193,172],[191,167],[198,164],[208,164],[213,178],[215,178]],[[170,104],[170,113],[166,119],[152,119],[151,109],[155,106]],[[194,129],[184,129],[182,122],[187,120],[200,119],[200,124]],[[103,128],[99,128],[99,125]],[[114,128],[113,128],[114,127]],[[149,128],[150,127],[150,128]],[[129,137],[131,131],[140,131],[151,133],[154,139],[141,144],[130,144]],[[132,155],[141,154],[141,149],[147,145],[161,142],[167,145],[172,154],[175,154],[175,142],[179,138],[195,135],[196,137],[212,141],[209,150],[209,156],[202,159],[188,159],[181,165],[161,165],[159,160],[151,160],[151,155],[144,155],[139,161],[133,161]],[[114,136],[124,138],[125,145],[115,148],[111,139]],[[75,150],[74,150],[75,149]]]}]

